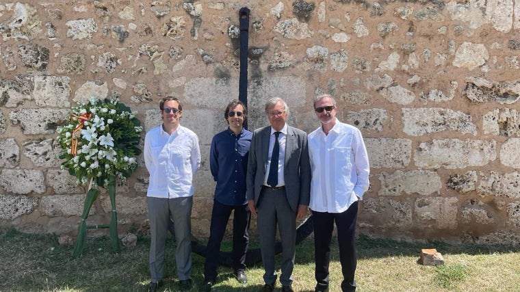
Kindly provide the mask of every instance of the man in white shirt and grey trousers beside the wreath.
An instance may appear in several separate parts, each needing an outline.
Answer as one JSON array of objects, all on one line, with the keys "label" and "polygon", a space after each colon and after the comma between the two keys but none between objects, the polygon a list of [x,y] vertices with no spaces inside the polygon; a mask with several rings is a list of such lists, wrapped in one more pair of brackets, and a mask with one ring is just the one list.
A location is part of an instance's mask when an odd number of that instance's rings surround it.
[{"label": "man in white shirt and grey trousers beside the wreath", "polygon": [[179,124],[183,109],[178,98],[166,96],[159,102],[159,109],[161,126],[148,131],[144,138],[144,163],[150,173],[146,193],[151,234],[148,291],[157,291],[162,285],[170,218],[177,241],[177,276],[181,290],[187,291],[192,288],[192,181],[200,166],[200,148],[197,135]]}]

